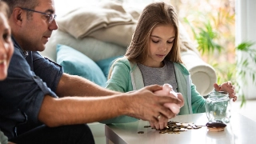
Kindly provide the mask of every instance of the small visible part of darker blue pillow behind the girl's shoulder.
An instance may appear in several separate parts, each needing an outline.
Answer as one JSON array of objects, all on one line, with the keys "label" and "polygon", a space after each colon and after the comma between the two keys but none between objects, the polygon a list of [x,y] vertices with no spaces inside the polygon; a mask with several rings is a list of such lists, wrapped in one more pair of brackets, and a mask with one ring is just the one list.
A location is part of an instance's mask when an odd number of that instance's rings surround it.
[{"label": "small visible part of darker blue pillow behind the girl's shoulder", "polygon": [[106,58],[106,59],[102,59],[98,62],[96,62],[96,64],[102,69],[103,74],[106,76],[108,76],[109,74],[109,70],[110,70],[110,63],[112,63],[116,58],[121,58],[123,56],[115,56],[115,57],[111,57],[111,58]]}]

